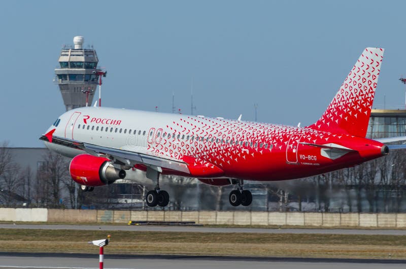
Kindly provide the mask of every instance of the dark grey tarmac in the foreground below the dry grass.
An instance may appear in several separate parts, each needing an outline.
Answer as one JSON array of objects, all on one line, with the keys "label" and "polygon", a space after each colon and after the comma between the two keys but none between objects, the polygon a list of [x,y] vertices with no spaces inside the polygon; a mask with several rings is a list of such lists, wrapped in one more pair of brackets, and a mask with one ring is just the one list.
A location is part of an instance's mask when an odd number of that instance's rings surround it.
[{"label": "dark grey tarmac in the foreground below the dry grass", "polygon": [[[0,268],[98,268],[98,255],[59,253],[0,253]],[[109,255],[105,252],[105,268],[404,268],[406,260],[250,258],[199,256]]]}]

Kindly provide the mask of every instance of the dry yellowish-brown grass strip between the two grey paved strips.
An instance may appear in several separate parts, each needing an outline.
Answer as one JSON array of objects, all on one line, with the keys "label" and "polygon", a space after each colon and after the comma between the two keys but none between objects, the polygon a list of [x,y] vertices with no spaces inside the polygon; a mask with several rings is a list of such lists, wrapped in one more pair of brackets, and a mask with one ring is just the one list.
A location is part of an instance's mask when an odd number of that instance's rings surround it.
[{"label": "dry yellowish-brown grass strip between the two grey paved strips", "polygon": [[0,251],[406,259],[406,236],[0,229]]}]

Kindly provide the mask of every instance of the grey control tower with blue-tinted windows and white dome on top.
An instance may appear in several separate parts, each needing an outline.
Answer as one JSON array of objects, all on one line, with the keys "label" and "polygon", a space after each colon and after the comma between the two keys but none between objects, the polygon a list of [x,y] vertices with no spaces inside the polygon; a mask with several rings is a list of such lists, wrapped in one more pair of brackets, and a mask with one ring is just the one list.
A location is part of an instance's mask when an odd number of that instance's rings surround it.
[{"label": "grey control tower with blue-tinted windows and white dome on top", "polygon": [[55,69],[55,84],[59,85],[66,111],[92,104],[99,82],[98,58],[92,47],[83,48],[83,37],[74,37],[74,46],[64,45]]}]

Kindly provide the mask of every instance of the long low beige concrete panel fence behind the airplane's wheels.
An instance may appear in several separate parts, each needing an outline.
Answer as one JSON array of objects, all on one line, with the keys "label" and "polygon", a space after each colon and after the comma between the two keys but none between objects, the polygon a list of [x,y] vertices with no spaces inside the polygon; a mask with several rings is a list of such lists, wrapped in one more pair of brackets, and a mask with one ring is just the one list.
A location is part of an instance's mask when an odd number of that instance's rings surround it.
[{"label": "long low beige concrete panel fence behind the airplane's wheels", "polygon": [[199,224],[406,228],[406,213],[301,213],[249,211],[120,211],[0,208],[0,221],[50,223],[128,223],[194,221]]}]

